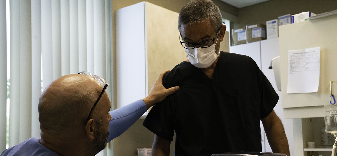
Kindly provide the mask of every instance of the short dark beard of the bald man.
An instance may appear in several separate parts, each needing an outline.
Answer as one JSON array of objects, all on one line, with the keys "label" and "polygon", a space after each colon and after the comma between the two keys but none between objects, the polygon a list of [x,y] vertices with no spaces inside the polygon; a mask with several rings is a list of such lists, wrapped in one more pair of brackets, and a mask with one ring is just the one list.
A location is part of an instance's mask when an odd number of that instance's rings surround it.
[{"label": "short dark beard of the bald man", "polygon": [[93,141],[94,149],[96,152],[102,151],[106,147],[106,141],[109,138],[109,131],[104,131],[102,126],[102,120],[98,119],[97,121],[97,137]]}]

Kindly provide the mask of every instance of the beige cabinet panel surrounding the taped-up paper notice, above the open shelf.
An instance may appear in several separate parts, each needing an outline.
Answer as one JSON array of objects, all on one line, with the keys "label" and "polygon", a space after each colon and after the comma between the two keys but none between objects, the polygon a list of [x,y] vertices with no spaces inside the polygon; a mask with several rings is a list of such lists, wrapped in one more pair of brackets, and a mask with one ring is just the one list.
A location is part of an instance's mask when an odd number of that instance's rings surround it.
[{"label": "beige cabinet panel surrounding the taped-up paper notice, above the open shelf", "polygon": [[[323,105],[330,104],[330,81],[337,94],[337,15],[279,27],[282,107],[296,117],[323,117]],[[288,50],[320,47],[320,75],[317,92],[287,93]],[[292,112],[296,107],[318,106],[316,111]],[[290,111],[290,112],[289,112]],[[295,116],[294,116],[295,117]]]}]

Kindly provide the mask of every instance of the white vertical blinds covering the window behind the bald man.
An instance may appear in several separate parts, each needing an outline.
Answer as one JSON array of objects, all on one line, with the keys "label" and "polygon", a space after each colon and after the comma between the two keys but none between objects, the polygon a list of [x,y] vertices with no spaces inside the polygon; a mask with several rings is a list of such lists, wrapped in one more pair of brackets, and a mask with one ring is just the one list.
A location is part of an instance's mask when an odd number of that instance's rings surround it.
[{"label": "white vertical blinds covering the window behind the bald man", "polygon": [[[9,147],[40,137],[38,101],[41,91],[53,80],[86,70],[113,84],[111,3],[111,0],[9,1]],[[7,67],[6,29],[6,0],[0,0],[2,73],[6,73]],[[6,84],[6,76],[0,77],[0,151],[6,149]],[[111,101],[112,88],[107,89]]]}]

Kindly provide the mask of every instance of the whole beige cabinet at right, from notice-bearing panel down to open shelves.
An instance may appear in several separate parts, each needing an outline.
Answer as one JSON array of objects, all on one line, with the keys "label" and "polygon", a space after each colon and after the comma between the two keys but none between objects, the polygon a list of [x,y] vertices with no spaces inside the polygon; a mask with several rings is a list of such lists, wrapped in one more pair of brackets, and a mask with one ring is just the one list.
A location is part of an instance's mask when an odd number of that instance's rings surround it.
[{"label": "whole beige cabinet at right, from notice-bearing panel down to open shelves", "polygon": [[[307,151],[327,151],[331,155],[332,146],[319,148],[319,129],[324,125],[324,105],[330,104],[330,81],[333,81],[332,92],[335,94],[337,92],[337,73],[335,72],[337,68],[336,25],[337,15],[331,15],[279,27],[282,107],[285,117],[294,118],[296,156],[307,155]],[[288,50],[313,47],[320,47],[318,91],[287,93]],[[318,146],[318,148],[307,149],[307,142],[309,141],[315,141],[315,147]]]}]

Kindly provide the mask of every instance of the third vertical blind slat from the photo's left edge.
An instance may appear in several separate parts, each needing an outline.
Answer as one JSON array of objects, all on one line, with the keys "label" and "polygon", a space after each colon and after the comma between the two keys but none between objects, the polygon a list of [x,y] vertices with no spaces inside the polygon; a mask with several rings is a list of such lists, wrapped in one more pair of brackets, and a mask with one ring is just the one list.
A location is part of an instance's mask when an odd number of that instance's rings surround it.
[{"label": "third vertical blind slat from the photo's left edge", "polygon": [[20,142],[31,138],[32,32],[31,2],[20,1]]}]

